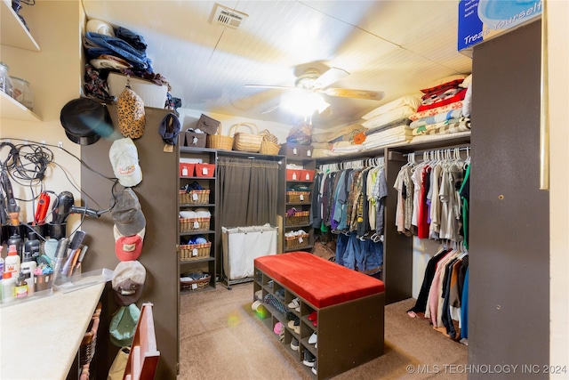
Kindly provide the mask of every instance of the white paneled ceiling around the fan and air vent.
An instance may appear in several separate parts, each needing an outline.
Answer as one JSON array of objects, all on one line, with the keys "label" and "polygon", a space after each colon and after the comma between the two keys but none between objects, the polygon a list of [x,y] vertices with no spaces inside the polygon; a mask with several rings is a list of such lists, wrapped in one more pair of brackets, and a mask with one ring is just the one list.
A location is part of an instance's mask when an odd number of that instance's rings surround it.
[{"label": "white paneled ceiling around the fan and air vent", "polygon": [[172,85],[185,109],[292,125],[278,103],[303,69],[329,67],[350,75],[332,87],[383,91],[381,101],[326,97],[333,115],[317,127],[359,120],[371,109],[418,93],[433,81],[469,74],[458,53],[458,0],[223,1],[246,18],[239,28],[212,24],[213,1],[83,0],[88,19],[143,36],[156,73]]}]

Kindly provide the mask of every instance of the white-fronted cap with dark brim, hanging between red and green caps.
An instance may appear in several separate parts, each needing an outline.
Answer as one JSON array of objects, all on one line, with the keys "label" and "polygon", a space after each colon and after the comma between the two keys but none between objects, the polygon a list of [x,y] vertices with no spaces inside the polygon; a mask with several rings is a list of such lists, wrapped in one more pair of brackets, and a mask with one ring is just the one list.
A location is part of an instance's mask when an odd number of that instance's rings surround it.
[{"label": "white-fronted cap with dark brim, hanging between red and green caps", "polygon": [[131,260],[118,263],[112,279],[116,304],[126,306],[140,300],[145,280],[146,269],[140,262]]}]

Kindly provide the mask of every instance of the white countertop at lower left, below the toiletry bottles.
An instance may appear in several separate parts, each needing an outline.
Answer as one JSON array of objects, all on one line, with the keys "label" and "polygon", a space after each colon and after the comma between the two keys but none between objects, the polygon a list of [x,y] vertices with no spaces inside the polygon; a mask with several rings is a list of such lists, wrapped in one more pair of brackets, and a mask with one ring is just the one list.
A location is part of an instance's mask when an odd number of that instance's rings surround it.
[{"label": "white countertop at lower left, below the toiletry bottles", "polygon": [[0,379],[68,376],[105,283],[0,309]]}]

